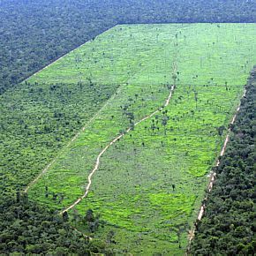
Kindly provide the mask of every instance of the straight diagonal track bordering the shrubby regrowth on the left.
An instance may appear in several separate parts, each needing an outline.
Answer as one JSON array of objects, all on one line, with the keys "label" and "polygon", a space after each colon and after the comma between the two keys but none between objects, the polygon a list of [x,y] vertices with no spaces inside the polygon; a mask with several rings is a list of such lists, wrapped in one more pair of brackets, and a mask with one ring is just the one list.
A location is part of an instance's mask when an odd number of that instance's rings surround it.
[{"label": "straight diagonal track bordering the shrubby regrowth on the left", "polygon": [[26,189],[24,190],[25,193],[28,192],[29,189],[30,189],[35,183],[37,183],[38,180],[49,170],[49,168],[56,162],[56,160],[58,159],[58,157],[59,157],[61,154],[64,153],[64,150],[65,150],[67,147],[70,147],[73,141],[75,141],[76,139],[78,139],[80,133],[81,133],[81,132],[84,132],[84,131],[87,129],[87,127],[89,126],[89,124],[91,124],[91,123],[94,121],[94,119],[95,119],[96,117],[98,117],[98,116],[101,114],[102,110],[105,109],[105,107],[109,104],[109,102],[110,102],[111,100],[113,100],[115,97],[117,97],[117,94],[119,94],[121,87],[122,87],[122,86],[118,87],[117,92],[116,92],[115,94],[113,94],[113,96],[102,106],[102,108],[94,115],[94,117],[92,117],[92,118],[87,122],[87,124],[84,125],[84,126],[79,130],[79,132],[76,133],[76,135],[68,142],[68,144],[66,144],[66,145],[64,146],[64,148],[56,155],[56,157],[55,157],[51,162],[49,162],[49,164],[48,164],[44,169],[42,169],[41,173],[40,173],[37,177],[35,177],[32,182],[30,182],[30,183],[26,186]]}]

